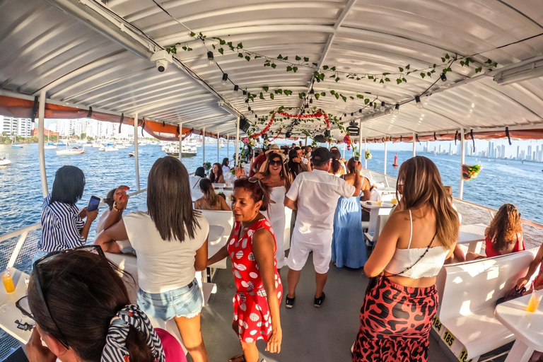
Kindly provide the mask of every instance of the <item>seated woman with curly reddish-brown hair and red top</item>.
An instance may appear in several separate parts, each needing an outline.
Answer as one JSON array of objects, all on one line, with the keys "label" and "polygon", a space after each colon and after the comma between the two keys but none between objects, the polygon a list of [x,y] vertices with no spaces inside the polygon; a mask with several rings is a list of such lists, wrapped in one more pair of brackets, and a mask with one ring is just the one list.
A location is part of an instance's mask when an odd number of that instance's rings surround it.
[{"label": "seated woman with curly reddish-brown hair and red top", "polygon": [[[497,257],[525,250],[522,238],[520,212],[513,204],[503,204],[484,231],[486,257]],[[466,260],[483,259],[484,256],[468,252]]]}]

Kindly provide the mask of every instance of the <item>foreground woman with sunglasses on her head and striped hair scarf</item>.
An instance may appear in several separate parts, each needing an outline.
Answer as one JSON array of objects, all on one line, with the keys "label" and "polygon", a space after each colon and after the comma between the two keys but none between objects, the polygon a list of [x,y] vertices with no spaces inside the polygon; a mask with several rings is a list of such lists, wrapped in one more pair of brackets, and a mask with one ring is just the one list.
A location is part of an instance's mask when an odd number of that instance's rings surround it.
[{"label": "foreground woman with sunglasses on her head and striped hair scarf", "polygon": [[28,284],[29,312],[36,322],[26,344],[28,360],[186,362],[179,342],[153,329],[130,303],[122,274],[98,245],[37,262]]}]

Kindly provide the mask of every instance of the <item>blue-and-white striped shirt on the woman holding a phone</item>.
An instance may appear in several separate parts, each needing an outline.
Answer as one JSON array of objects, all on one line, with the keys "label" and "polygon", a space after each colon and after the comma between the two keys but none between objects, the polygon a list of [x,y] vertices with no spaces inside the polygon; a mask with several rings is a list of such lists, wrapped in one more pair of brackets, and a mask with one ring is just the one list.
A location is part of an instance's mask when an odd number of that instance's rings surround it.
[{"label": "blue-and-white striped shirt on the woman holding a phone", "polygon": [[53,202],[49,205],[51,194],[43,200],[42,240],[37,250],[54,252],[85,245],[81,229],[85,221],[79,217],[77,206]]}]

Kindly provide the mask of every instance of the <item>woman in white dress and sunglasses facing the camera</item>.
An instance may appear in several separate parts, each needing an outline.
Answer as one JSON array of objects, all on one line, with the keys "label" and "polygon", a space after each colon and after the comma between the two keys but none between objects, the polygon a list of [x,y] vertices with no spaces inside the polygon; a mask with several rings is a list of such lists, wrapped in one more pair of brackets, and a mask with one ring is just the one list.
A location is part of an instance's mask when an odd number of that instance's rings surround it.
[{"label": "woman in white dress and sunglasses facing the camera", "polygon": [[267,211],[262,211],[271,223],[271,227],[276,230],[277,243],[277,269],[284,267],[285,250],[284,250],[284,230],[285,230],[285,195],[291,187],[291,179],[288,173],[285,172],[283,158],[279,153],[269,153],[267,156],[267,167],[262,173],[257,173],[255,177],[262,180],[264,185],[267,185],[270,192],[271,202],[268,205]]}]

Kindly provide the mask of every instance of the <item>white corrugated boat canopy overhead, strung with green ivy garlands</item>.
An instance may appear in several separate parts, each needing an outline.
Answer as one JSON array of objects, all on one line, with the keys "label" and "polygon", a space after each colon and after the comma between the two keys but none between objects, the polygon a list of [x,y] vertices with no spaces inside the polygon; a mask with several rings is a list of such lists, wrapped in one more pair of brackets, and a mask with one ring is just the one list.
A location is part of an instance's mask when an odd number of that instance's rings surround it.
[{"label": "white corrugated boat canopy overhead, strung with green ivy garlands", "polygon": [[[351,121],[374,141],[542,138],[542,33],[539,0],[4,0],[0,111],[41,94],[221,136],[284,109],[332,115],[338,139]],[[319,119],[276,115],[267,134],[313,136]]]}]

